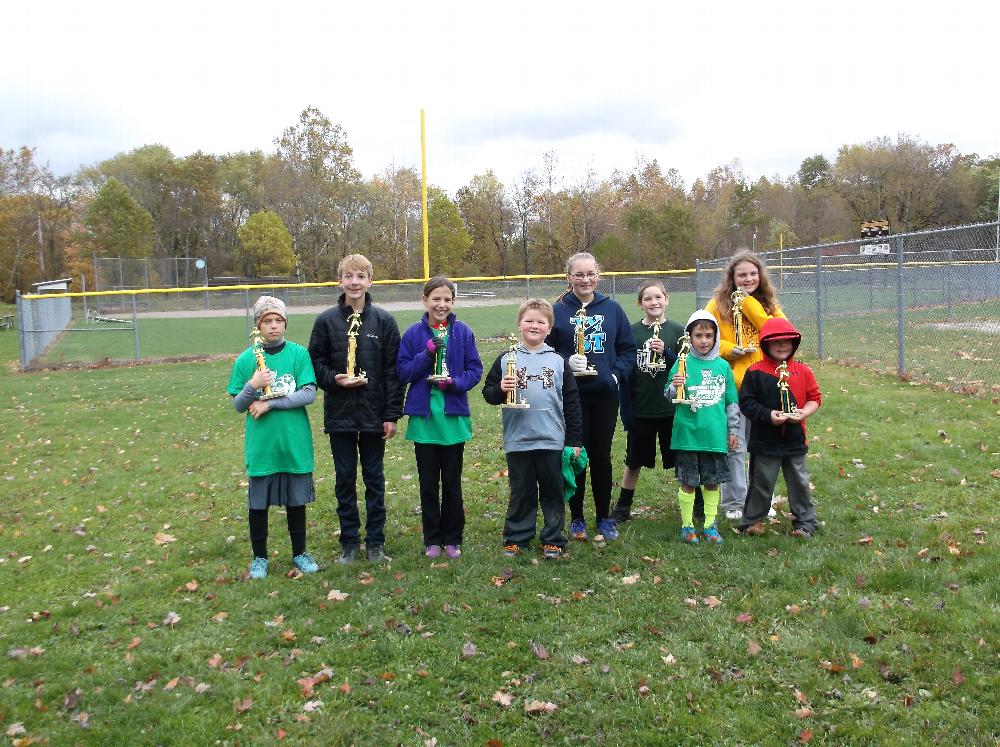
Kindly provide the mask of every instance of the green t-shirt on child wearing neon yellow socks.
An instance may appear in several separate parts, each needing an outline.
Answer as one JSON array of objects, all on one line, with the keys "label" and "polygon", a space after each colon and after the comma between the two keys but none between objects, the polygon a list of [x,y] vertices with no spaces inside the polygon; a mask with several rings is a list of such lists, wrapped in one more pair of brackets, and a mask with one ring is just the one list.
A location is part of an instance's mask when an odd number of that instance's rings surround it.
[{"label": "green t-shirt on child wearing neon yellow socks", "polygon": [[[733,369],[724,358],[706,361],[689,355],[687,362],[685,394],[688,399],[697,400],[698,406],[692,412],[690,406],[676,405],[670,448],[725,454],[729,451],[726,406],[739,401]],[[674,377],[678,363],[674,362],[668,379]]]}]

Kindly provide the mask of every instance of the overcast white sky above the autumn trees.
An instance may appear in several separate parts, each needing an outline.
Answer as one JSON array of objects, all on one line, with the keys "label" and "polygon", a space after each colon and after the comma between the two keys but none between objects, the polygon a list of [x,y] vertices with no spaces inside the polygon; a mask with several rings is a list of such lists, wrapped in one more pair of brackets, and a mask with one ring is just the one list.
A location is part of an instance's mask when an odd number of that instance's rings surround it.
[{"label": "overcast white sky above the autumn trees", "polygon": [[[681,7],[683,5],[683,7]],[[161,143],[273,151],[314,106],[366,176],[449,192],[555,151],[566,182],[637,158],[694,179],[794,173],[907,133],[1000,153],[1000,3],[18,2],[4,11],[0,147],[57,173]]]}]

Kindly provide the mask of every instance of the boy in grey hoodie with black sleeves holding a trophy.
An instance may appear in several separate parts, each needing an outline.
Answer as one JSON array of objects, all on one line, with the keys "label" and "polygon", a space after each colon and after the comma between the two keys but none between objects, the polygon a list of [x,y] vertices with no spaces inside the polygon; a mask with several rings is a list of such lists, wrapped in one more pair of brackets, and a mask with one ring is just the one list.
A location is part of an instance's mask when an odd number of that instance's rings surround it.
[{"label": "boy in grey hoodie with black sleeves holding a trophy", "polygon": [[582,418],[573,371],[545,343],[552,321],[548,301],[529,299],[521,304],[517,312],[521,341],[497,357],[483,384],[483,399],[491,405],[503,407],[514,399],[514,406],[502,410],[510,480],[503,527],[507,557],[515,557],[531,543],[539,504],[543,557],[559,558],[566,547],[563,450],[571,447],[573,457],[580,457]]}]

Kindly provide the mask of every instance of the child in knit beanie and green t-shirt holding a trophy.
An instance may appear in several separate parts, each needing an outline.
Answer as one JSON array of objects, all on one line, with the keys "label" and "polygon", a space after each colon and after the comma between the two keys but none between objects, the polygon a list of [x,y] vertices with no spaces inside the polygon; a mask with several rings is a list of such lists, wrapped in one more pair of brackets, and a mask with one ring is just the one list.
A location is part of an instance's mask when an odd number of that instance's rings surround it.
[{"label": "child in knit beanie and green t-shirt holding a trophy", "polygon": [[306,504],[313,489],[313,442],[306,406],[316,399],[309,353],[285,340],[285,304],[261,296],[253,308],[253,344],[233,364],[226,391],[237,412],[247,413],[246,468],[250,546],[249,577],[267,576],[267,509],[284,506],[292,562],[303,573],[319,566],[306,552]]}]

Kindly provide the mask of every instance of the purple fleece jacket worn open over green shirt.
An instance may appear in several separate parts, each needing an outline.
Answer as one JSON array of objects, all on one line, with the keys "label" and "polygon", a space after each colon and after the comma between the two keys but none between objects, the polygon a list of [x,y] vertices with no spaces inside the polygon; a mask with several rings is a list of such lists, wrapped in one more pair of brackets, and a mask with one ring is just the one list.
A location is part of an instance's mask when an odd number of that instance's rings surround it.
[{"label": "purple fleece jacket worn open over green shirt", "polygon": [[[483,362],[476,349],[476,335],[472,328],[448,315],[448,351],[445,360],[452,384],[444,392],[445,415],[469,415],[468,392],[483,377]],[[427,352],[427,341],[434,336],[427,314],[414,322],[403,333],[396,358],[396,375],[410,388],[406,393],[404,415],[431,414],[431,383],[427,377],[434,373],[434,357]],[[437,386],[435,384],[435,386]]]}]

